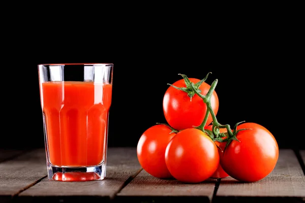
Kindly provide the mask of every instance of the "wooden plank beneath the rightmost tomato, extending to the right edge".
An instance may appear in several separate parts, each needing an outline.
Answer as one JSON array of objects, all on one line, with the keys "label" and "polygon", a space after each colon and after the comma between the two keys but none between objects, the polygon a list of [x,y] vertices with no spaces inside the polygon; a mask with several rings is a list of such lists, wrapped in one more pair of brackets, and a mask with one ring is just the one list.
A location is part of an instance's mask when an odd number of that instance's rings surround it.
[{"label": "wooden plank beneath the rightmost tomato, extending to the right edge", "polygon": [[305,177],[290,149],[280,150],[275,169],[255,183],[241,183],[233,178],[221,180],[214,202],[303,202]]}]

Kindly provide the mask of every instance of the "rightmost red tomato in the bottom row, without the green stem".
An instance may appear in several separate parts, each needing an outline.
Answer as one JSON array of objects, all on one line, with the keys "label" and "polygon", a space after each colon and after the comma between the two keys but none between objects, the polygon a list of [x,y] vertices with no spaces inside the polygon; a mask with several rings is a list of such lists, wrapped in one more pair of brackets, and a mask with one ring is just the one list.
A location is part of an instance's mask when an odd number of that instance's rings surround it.
[{"label": "rightmost red tomato in the bottom row, without the green stem", "polygon": [[278,143],[271,132],[257,123],[243,123],[241,130],[220,157],[220,162],[232,178],[242,182],[255,182],[273,171],[279,157]]}]

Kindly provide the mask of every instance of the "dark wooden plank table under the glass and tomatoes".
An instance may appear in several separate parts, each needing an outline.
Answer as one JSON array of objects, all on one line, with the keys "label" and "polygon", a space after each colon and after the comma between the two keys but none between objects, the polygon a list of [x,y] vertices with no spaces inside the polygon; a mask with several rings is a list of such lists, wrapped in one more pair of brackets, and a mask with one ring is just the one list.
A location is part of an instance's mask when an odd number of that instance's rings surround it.
[{"label": "dark wooden plank table under the glass and tomatoes", "polygon": [[109,148],[107,161],[103,181],[57,182],[46,178],[44,149],[0,150],[0,202],[305,202],[305,150],[281,149],[275,170],[255,183],[154,178],[135,148]]}]

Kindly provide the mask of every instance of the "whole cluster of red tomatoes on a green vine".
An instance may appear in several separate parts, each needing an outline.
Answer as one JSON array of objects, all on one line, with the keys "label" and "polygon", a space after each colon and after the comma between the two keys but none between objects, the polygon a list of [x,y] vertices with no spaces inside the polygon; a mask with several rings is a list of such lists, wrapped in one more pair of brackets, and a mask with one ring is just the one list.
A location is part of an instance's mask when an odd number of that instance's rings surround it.
[{"label": "whole cluster of red tomatoes on a green vine", "polygon": [[[196,84],[197,93],[193,91]],[[219,108],[216,91],[209,93],[208,103],[199,96],[206,95],[210,88],[202,80],[186,76],[169,86],[163,98],[168,124],[149,127],[137,145],[139,163],[151,176],[184,183],[228,176],[255,182],[276,166],[278,144],[265,127],[238,123],[231,130],[216,125]],[[203,129],[196,127],[202,124]]]}]

